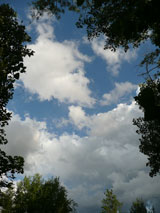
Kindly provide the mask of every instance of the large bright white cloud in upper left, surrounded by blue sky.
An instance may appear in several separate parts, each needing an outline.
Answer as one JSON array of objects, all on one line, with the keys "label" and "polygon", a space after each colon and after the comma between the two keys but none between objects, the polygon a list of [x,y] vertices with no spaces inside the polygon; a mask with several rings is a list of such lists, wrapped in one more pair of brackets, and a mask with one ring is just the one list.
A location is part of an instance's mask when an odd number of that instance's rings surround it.
[{"label": "large bright white cloud in upper left, surrounded by blue sky", "polygon": [[56,98],[91,107],[95,100],[84,70],[84,64],[91,59],[78,50],[78,42],[58,42],[49,21],[42,19],[34,27],[38,38],[28,46],[35,54],[25,59],[27,72],[21,78],[24,87],[42,101]]}]

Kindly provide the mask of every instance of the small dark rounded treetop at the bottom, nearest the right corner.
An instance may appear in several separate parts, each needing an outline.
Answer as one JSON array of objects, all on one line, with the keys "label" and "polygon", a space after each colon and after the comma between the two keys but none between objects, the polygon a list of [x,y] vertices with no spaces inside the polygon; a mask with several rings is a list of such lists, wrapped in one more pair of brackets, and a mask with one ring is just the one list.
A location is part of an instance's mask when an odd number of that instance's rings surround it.
[{"label": "small dark rounded treetop at the bottom, nearest the right corner", "polygon": [[130,213],[147,213],[144,201],[142,199],[136,199],[136,201],[132,203]]}]

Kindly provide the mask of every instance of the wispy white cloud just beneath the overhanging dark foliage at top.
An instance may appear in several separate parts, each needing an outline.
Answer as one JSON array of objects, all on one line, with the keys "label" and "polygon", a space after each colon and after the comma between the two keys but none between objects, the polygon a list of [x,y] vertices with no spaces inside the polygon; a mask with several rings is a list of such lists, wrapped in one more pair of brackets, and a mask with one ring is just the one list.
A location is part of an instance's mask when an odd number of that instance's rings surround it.
[{"label": "wispy white cloud just beneath the overhanging dark foliage at top", "polygon": [[118,48],[115,52],[110,49],[104,50],[105,41],[103,39],[94,39],[91,43],[94,53],[105,60],[107,64],[107,72],[116,76],[119,73],[120,66],[123,62],[130,62],[137,57],[135,50],[124,52],[122,48]]}]

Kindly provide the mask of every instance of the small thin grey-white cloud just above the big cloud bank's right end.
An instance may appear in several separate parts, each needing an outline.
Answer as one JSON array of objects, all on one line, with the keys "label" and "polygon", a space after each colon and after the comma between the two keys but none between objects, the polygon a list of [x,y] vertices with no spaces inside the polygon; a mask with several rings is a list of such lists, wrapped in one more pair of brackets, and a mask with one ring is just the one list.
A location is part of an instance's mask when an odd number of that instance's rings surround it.
[{"label": "small thin grey-white cloud just above the big cloud bank's right end", "polygon": [[132,91],[137,89],[137,85],[130,82],[115,83],[115,88],[103,95],[102,105],[115,104],[122,101],[121,98],[130,94]]}]

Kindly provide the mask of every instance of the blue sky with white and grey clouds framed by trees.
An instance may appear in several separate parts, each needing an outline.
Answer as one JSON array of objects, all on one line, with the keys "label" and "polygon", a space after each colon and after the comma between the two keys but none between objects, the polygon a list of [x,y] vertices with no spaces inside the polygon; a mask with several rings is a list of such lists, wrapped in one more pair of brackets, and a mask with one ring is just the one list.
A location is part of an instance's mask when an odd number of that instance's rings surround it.
[{"label": "blue sky with white and grey clouds framed by trees", "polygon": [[24,21],[35,51],[25,58],[27,71],[7,106],[12,120],[4,149],[24,157],[25,175],[60,177],[79,213],[100,212],[111,188],[124,213],[136,198],[158,212],[160,179],[149,177],[132,124],[143,116],[134,96],[144,81],[138,65],[149,41],[127,53],[104,50],[104,37],[88,41],[74,13],[31,21],[28,1],[3,2]]}]

